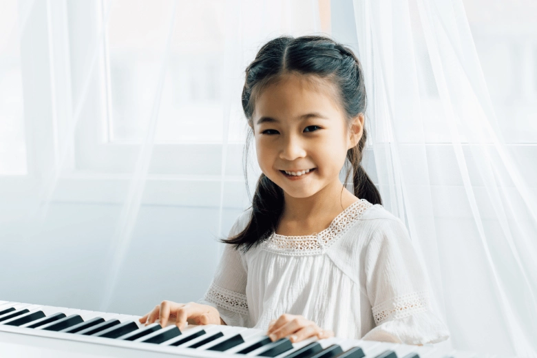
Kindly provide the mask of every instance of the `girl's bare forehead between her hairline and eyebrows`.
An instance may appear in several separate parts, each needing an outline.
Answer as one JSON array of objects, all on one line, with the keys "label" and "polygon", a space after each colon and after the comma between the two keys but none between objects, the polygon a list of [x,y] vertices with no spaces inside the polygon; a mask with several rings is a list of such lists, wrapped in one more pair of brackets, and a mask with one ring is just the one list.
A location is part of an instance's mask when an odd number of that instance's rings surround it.
[{"label": "girl's bare forehead between her hairline and eyebrows", "polygon": [[286,74],[260,91],[253,118],[299,117],[309,112],[328,117],[341,114],[334,83],[319,76]]}]

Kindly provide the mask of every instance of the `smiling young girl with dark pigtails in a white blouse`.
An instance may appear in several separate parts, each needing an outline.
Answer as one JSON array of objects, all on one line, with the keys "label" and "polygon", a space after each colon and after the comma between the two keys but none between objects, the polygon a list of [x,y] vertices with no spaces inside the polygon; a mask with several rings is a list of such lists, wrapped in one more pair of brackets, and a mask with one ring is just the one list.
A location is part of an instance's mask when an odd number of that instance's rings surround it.
[{"label": "smiling young girl with dark pigtails in a white blouse", "polygon": [[[283,36],[246,68],[242,107],[262,175],[200,303],[164,301],[140,319],[228,324],[289,337],[406,344],[448,339],[399,218],[361,167],[366,89],[351,50]],[[354,193],[339,180],[353,169]]]}]

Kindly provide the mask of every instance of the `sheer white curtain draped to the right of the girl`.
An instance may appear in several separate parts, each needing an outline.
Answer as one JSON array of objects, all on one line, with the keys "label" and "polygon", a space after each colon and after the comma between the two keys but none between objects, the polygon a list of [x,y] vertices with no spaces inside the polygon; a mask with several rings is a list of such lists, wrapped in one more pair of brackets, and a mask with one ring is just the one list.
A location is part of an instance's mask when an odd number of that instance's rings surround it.
[{"label": "sheer white curtain draped to the right of the girl", "polygon": [[516,125],[535,133],[534,121],[496,116],[461,0],[355,0],[353,9],[366,170],[406,221],[454,348],[535,357],[536,187],[517,156],[537,138],[506,136]]}]

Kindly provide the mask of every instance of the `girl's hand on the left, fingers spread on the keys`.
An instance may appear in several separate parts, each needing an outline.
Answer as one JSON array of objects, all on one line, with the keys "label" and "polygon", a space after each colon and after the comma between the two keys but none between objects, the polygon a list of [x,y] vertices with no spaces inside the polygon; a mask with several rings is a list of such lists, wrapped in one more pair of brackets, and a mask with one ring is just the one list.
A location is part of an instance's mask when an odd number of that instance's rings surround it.
[{"label": "girl's hand on the left, fingers spread on the keys", "polygon": [[213,306],[189,302],[178,304],[171,301],[162,301],[151,312],[139,319],[140,323],[154,323],[160,320],[160,326],[164,328],[169,320],[175,321],[176,326],[182,330],[187,322],[189,324],[220,324],[220,314]]}]

